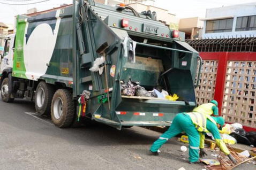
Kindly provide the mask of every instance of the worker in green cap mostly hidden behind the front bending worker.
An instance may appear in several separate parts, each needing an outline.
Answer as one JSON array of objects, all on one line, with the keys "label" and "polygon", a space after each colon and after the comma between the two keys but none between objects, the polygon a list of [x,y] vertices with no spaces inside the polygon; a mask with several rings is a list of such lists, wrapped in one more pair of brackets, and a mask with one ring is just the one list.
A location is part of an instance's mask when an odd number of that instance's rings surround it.
[{"label": "worker in green cap mostly hidden behind the front bending worker", "polygon": [[198,107],[195,107],[192,112],[198,112],[202,114],[208,114],[214,116],[219,115],[218,102],[215,100],[210,101],[210,103],[201,104]]}]

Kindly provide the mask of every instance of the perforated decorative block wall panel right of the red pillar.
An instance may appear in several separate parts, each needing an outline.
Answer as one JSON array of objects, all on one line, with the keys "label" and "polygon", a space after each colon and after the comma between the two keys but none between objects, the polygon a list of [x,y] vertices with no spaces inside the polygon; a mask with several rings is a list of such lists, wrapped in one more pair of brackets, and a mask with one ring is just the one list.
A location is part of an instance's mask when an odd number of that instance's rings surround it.
[{"label": "perforated decorative block wall panel right of the red pillar", "polygon": [[228,122],[256,127],[256,61],[228,60],[222,114]]}]

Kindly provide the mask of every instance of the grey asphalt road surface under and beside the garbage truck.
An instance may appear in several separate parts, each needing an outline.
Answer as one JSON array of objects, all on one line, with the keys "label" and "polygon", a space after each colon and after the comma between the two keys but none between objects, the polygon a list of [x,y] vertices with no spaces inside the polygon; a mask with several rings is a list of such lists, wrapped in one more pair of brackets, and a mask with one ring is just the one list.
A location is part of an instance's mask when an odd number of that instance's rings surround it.
[{"label": "grey asphalt road surface under and beside the garbage truck", "polygon": [[60,129],[34,112],[31,102],[0,99],[0,169],[205,168],[188,164],[188,152],[182,155],[183,144],[175,138],[162,146],[160,156],[149,156],[150,145],[160,136],[152,130],[119,131],[98,123]]}]

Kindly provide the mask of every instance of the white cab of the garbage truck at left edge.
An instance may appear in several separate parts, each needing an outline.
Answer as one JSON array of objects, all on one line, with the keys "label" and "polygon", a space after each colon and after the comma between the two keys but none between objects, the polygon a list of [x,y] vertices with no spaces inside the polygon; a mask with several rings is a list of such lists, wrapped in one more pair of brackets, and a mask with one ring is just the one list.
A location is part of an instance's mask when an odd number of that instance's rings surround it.
[{"label": "white cab of the garbage truck at left edge", "polygon": [[15,43],[15,34],[10,34],[4,45],[4,52],[1,56],[1,66],[0,66],[0,75],[3,73],[4,69],[12,68],[13,64],[13,55],[14,55],[14,43]]}]

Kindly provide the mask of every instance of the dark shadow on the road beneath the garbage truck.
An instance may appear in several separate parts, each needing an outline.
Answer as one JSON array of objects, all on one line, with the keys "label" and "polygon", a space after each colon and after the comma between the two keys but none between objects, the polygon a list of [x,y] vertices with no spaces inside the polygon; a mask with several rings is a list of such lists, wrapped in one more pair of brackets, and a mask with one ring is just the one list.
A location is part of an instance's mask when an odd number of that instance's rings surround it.
[{"label": "dark shadow on the road beneath the garbage truck", "polygon": [[[10,126],[20,130],[41,134],[45,137],[62,138],[71,144],[91,146],[147,145],[152,144],[159,137],[159,133],[140,127],[117,130],[97,122],[91,126],[61,129],[25,114],[24,112],[35,112],[33,102],[17,99],[13,103],[4,103],[0,100],[0,105],[1,107],[9,108],[5,109],[9,114],[9,118],[2,118],[0,122],[8,123]],[[1,112],[4,111],[2,110]],[[50,118],[41,118],[50,121]],[[19,119],[19,121],[13,121],[13,119]]]}]

